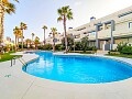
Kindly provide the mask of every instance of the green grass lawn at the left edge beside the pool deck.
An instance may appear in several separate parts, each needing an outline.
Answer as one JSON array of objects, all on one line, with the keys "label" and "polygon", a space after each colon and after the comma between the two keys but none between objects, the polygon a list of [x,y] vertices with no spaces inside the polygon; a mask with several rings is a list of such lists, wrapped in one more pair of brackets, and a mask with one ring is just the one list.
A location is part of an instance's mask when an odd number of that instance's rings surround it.
[{"label": "green grass lawn at the left edge beside the pool deck", "polygon": [[12,52],[10,52],[10,53],[4,53],[3,55],[0,55],[0,62],[6,62],[6,61],[10,61],[10,59],[12,59],[13,57],[15,57],[15,56],[21,56],[21,55],[10,55],[10,54],[12,54]]}]

